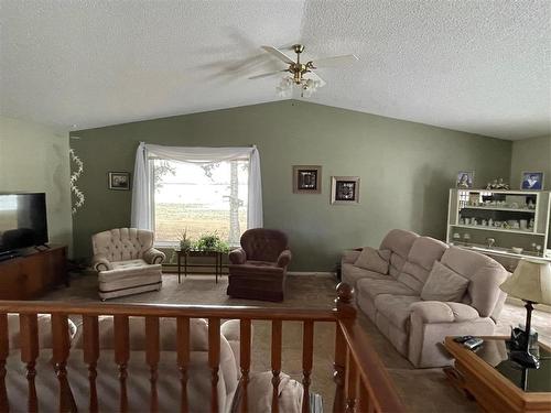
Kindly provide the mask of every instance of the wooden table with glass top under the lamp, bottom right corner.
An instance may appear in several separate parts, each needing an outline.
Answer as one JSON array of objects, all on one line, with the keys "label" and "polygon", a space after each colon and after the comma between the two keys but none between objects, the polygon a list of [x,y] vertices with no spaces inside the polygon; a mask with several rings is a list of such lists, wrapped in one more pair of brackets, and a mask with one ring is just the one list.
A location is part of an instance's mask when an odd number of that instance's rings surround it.
[{"label": "wooden table with glass top under the lamp, bottom right corner", "polygon": [[551,412],[551,349],[539,344],[538,370],[521,369],[508,359],[508,337],[482,337],[484,344],[471,351],[446,337],[444,345],[455,358],[444,372],[488,412]]}]

